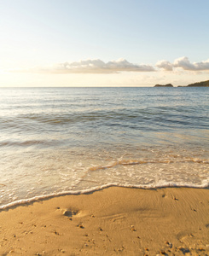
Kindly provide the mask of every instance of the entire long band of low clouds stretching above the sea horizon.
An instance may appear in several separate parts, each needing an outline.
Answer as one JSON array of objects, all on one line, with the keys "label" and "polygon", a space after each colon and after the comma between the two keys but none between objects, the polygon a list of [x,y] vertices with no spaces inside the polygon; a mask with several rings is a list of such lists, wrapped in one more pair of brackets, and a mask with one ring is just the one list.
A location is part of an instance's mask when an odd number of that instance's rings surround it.
[{"label": "entire long band of low clouds stretching above the sea horizon", "polygon": [[100,59],[62,62],[51,67],[33,67],[29,69],[9,69],[7,72],[16,73],[122,73],[122,72],[172,72],[185,70],[191,72],[209,71],[209,59],[200,62],[190,62],[188,57],[177,58],[170,61],[158,61],[155,65],[133,64],[125,59],[104,62]]}]

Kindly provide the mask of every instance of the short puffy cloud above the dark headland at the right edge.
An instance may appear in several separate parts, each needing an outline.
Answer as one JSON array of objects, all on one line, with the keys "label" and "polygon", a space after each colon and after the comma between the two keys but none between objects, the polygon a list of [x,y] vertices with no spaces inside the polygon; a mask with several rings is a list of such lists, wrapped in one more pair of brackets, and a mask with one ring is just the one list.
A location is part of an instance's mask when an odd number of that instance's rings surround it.
[{"label": "short puffy cloud above the dark headland at the right edge", "polygon": [[155,66],[163,68],[165,71],[172,71],[175,67],[189,71],[209,71],[209,60],[192,63],[189,61],[188,57],[181,57],[176,59],[173,63],[169,61],[158,61]]}]

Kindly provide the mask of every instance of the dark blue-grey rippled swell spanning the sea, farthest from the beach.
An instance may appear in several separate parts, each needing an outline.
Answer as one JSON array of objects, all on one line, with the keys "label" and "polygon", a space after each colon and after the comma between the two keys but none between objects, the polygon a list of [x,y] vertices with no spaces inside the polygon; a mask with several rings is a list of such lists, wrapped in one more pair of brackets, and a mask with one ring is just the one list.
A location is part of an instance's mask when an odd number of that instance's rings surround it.
[{"label": "dark blue-grey rippled swell spanning the sea, farthest from the beach", "polygon": [[[63,112],[64,111],[64,112]],[[107,122],[111,124],[111,121],[118,121],[123,124],[123,121],[127,121],[132,124],[147,124],[150,123],[163,125],[177,125],[177,126],[192,126],[200,127],[208,125],[206,120],[206,115],[200,113],[195,114],[195,112],[190,113],[179,111],[177,108],[171,108],[162,110],[160,108],[107,108],[107,109],[97,109],[92,111],[90,109],[84,109],[84,111],[78,111],[76,109],[56,109],[53,113],[50,111],[38,112],[38,113],[25,113],[18,114],[15,116],[7,116],[7,118],[0,117],[0,125],[2,128],[13,128],[21,127],[24,125],[67,125],[84,123],[89,121],[95,122]]]}]

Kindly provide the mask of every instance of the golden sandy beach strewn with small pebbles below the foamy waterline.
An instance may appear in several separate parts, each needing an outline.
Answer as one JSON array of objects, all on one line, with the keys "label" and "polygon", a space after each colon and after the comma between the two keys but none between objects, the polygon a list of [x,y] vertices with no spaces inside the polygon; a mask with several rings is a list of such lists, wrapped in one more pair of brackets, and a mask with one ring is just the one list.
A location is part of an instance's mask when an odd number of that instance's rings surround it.
[{"label": "golden sandy beach strewn with small pebbles below the foamy waterline", "polygon": [[209,255],[209,190],[110,187],[0,212],[1,255]]}]

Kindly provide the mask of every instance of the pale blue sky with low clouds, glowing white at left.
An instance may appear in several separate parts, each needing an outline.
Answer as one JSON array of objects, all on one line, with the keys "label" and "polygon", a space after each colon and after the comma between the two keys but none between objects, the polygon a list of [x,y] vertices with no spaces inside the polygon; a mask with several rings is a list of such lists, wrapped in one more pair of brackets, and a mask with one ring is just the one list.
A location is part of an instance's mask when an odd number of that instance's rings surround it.
[{"label": "pale blue sky with low clouds, glowing white at left", "polygon": [[0,87],[209,79],[208,0],[0,0]]}]

